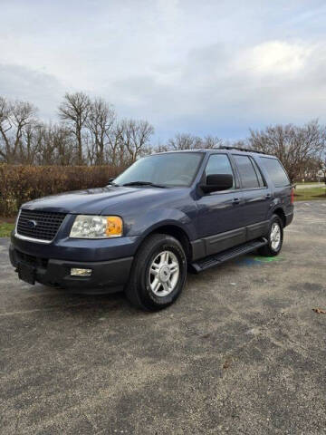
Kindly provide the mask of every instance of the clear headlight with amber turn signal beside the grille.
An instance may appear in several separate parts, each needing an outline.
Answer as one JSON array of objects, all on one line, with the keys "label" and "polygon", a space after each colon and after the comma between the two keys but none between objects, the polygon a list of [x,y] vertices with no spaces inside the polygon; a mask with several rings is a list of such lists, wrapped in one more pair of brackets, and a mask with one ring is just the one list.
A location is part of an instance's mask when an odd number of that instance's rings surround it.
[{"label": "clear headlight with amber turn signal beside the grille", "polygon": [[76,216],[70,237],[108,238],[122,236],[122,219],[119,216]]}]

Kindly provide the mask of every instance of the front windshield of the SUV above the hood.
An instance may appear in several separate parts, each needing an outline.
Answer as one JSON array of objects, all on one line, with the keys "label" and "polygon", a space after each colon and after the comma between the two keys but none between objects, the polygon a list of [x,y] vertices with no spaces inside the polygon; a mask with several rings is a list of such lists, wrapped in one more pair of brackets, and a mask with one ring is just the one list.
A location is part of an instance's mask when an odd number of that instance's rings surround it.
[{"label": "front windshield of the SUV above the hood", "polygon": [[201,152],[155,154],[135,161],[114,183],[147,182],[161,186],[190,186],[203,158]]}]

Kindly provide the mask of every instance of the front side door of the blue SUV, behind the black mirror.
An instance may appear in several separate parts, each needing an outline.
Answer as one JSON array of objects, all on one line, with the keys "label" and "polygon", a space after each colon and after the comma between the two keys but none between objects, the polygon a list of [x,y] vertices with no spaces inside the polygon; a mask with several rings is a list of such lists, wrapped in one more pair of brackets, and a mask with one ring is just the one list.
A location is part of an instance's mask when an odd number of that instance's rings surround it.
[{"label": "front side door of the blue SUV, behind the black mirror", "polygon": [[245,242],[245,225],[241,212],[243,194],[227,154],[212,154],[204,178],[211,174],[231,174],[234,186],[224,191],[202,194],[197,199],[197,234],[205,242],[206,256]]}]

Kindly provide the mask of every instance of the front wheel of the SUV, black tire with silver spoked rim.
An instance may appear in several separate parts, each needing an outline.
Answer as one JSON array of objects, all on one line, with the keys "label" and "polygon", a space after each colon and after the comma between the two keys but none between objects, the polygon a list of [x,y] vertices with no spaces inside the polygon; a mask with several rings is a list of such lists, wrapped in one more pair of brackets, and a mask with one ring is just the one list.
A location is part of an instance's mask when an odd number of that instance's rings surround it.
[{"label": "front wheel of the SUV, black tire with silver spoked rim", "polygon": [[186,278],[187,257],[181,244],[166,234],[154,234],[135,256],[125,294],[131,304],[158,311],[177,300]]}]

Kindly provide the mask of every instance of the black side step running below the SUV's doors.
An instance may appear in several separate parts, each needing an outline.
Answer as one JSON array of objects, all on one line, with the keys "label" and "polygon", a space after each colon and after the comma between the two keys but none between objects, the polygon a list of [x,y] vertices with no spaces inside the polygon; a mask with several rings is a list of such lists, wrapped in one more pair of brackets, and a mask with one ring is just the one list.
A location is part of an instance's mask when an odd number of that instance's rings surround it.
[{"label": "black side step running below the SUV's doors", "polygon": [[222,263],[225,263],[225,261],[231,260],[236,256],[242,256],[244,254],[248,254],[249,252],[254,251],[254,249],[257,249],[258,247],[264,247],[264,245],[267,245],[267,243],[268,241],[264,237],[256,240],[251,240],[250,242],[246,242],[243,245],[239,245],[238,247],[231,247],[230,249],[226,249],[225,251],[215,254],[213,256],[206,256],[205,258],[201,258],[195,263],[192,263],[191,266],[193,266],[198,274],[199,272],[209,269],[210,267],[221,265]]}]

